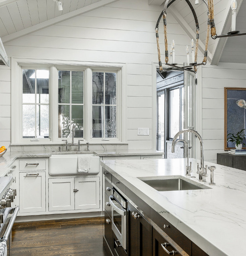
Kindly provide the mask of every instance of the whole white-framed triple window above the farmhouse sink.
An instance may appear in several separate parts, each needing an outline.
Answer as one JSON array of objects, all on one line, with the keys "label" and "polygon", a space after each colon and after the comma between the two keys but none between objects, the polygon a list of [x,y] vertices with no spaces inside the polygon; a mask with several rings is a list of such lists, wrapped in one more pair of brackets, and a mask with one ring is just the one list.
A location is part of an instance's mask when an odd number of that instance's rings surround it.
[{"label": "whole white-framed triple window above the farmhouse sink", "polygon": [[60,144],[64,139],[71,143],[73,125],[75,143],[76,139],[125,142],[125,65],[83,66],[61,61],[51,65],[25,59],[22,64],[17,60],[13,58],[11,71],[15,74],[12,143]]}]

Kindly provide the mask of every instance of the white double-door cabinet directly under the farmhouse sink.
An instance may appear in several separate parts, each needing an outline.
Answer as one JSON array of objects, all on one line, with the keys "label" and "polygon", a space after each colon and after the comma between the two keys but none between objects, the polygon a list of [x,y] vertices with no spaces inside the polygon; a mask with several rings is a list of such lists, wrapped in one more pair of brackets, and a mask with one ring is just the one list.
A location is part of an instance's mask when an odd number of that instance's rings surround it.
[{"label": "white double-door cabinet directly under the farmhouse sink", "polygon": [[48,180],[49,211],[100,208],[100,177]]}]

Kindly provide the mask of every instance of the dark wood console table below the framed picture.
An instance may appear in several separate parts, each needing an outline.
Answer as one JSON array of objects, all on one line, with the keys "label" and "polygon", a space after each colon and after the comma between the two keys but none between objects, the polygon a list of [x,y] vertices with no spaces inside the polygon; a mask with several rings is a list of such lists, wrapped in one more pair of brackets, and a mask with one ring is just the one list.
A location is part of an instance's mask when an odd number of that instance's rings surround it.
[{"label": "dark wood console table below the framed picture", "polygon": [[246,154],[236,155],[229,153],[218,153],[217,163],[218,165],[225,165],[228,167],[246,171]]}]

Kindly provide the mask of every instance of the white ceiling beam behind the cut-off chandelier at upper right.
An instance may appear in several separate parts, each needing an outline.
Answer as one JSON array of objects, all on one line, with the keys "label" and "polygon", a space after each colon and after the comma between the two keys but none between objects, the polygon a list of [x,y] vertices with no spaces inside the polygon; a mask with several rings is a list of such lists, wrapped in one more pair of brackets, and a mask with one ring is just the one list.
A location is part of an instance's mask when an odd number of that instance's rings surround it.
[{"label": "white ceiling beam behind the cut-off chandelier at upper right", "polygon": [[[243,0],[240,0],[239,4],[238,4],[238,8],[237,8],[237,13],[240,9],[240,6],[242,4]],[[217,35],[220,34],[227,34],[227,32],[230,31],[231,29],[231,1],[228,1],[227,7],[226,7],[226,12],[224,15],[224,18],[222,20],[223,22],[223,28],[222,31],[216,31]],[[215,21],[215,26],[216,26],[216,21]],[[226,46],[226,42],[227,42],[228,37],[221,37],[221,38],[217,38],[215,39],[215,44],[214,44],[214,49],[212,51],[212,61],[211,61],[211,65],[218,65],[218,63],[220,62],[220,58],[222,56],[223,50]],[[214,40],[214,39],[212,39]]]}]

